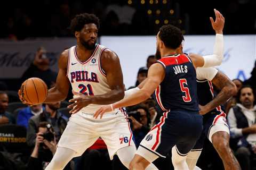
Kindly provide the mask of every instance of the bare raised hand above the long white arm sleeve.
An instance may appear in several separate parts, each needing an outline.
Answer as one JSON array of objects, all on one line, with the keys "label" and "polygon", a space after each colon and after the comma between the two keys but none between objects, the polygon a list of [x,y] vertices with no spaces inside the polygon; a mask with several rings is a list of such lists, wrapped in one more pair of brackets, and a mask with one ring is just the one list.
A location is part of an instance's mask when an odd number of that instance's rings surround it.
[{"label": "bare raised hand above the long white arm sleeve", "polygon": [[212,28],[215,30],[216,33],[223,34],[223,28],[224,28],[224,23],[225,23],[225,18],[222,16],[222,14],[214,9],[215,13],[215,21],[213,20],[212,17],[210,17],[211,23],[212,23]]}]

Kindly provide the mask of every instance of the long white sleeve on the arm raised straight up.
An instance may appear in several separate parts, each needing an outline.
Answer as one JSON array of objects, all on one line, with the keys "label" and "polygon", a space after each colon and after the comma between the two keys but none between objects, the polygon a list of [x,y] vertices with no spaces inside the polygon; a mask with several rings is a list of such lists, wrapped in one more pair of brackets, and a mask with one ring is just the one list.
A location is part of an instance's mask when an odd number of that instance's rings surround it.
[{"label": "long white sleeve on the arm raised straight up", "polygon": [[203,56],[204,66],[203,67],[212,67],[220,65],[223,60],[223,35],[217,33],[215,37],[215,45],[213,50],[213,55]]}]

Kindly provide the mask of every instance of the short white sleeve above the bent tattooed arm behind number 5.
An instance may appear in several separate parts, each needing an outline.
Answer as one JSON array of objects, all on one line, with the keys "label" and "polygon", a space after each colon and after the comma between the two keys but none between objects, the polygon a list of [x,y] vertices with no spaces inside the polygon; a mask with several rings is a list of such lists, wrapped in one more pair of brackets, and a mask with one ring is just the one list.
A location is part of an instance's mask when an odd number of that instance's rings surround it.
[{"label": "short white sleeve above the bent tattooed arm behind number 5", "polygon": [[212,79],[215,77],[215,75],[218,73],[218,70],[214,67],[208,67],[208,68],[202,68],[197,67],[196,68],[196,79],[198,80],[209,80],[212,81]]}]

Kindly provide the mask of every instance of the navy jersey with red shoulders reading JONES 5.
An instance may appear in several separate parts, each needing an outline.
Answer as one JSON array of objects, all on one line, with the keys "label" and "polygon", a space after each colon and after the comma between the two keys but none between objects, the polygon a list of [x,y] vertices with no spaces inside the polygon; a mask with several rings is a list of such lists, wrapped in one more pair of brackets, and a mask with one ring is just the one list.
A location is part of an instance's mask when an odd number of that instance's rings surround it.
[{"label": "navy jersey with red shoulders reading JONES 5", "polygon": [[163,111],[198,111],[196,70],[185,55],[166,56],[157,61],[165,68],[165,78],[155,90]]}]

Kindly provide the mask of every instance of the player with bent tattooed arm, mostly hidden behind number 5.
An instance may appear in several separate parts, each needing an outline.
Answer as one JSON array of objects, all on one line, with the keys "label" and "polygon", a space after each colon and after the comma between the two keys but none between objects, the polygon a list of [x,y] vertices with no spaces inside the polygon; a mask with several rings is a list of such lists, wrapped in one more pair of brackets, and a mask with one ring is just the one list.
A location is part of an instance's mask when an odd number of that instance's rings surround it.
[{"label": "player with bent tattooed arm, mostly hidden behind number 5", "polygon": [[[235,84],[222,72],[210,68],[197,68],[197,95],[203,115],[203,132],[197,140],[194,148],[187,155],[187,164],[190,170],[194,170],[197,160],[201,154],[204,140],[208,138],[222,159],[225,169],[241,169],[233,152],[229,147],[229,127],[226,122],[226,114],[221,109],[221,104],[236,94]],[[213,86],[221,89],[214,96]],[[199,169],[197,167],[197,169]]]}]

